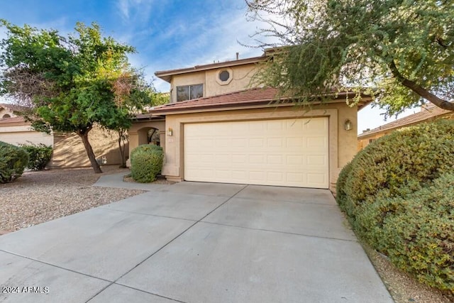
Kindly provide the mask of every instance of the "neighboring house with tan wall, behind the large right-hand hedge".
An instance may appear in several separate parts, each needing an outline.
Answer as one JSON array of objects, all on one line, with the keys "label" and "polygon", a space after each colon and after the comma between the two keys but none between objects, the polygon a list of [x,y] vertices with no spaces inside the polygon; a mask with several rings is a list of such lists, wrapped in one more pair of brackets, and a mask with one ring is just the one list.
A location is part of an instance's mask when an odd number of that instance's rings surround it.
[{"label": "neighboring house with tan wall, behind the large right-hand hedge", "polygon": [[421,106],[421,111],[419,111],[419,113],[392,121],[372,130],[367,129],[362,131],[362,133],[358,135],[358,150],[362,150],[362,148],[365,148],[369,143],[377,140],[377,138],[387,135],[388,133],[392,133],[399,128],[416,125],[422,122],[434,121],[441,118],[454,119],[454,112],[441,109],[433,104],[426,104]]}]

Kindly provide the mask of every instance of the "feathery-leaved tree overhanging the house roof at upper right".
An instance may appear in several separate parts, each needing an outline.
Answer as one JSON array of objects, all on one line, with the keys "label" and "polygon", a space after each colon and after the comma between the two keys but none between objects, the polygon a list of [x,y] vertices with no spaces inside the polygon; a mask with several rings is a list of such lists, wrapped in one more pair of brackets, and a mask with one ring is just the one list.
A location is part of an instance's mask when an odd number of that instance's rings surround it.
[{"label": "feathery-leaved tree overhanging the house roof at upper right", "polygon": [[[322,96],[367,88],[387,114],[422,99],[454,110],[454,6],[446,0],[245,0],[269,27],[270,60],[256,80]],[[313,100],[313,99],[312,99]]]}]

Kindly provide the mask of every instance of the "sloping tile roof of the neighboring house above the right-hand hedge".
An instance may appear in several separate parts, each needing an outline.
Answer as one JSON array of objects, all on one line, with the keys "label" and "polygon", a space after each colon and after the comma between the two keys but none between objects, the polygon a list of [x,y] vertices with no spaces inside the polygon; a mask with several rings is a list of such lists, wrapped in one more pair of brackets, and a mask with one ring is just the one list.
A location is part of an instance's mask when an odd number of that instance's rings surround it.
[{"label": "sloping tile roof of the neighboring house above the right-hand hedge", "polygon": [[370,131],[364,131],[360,135],[358,135],[358,138],[369,136],[374,133],[379,133],[380,131],[387,131],[387,130],[394,129],[394,128],[402,128],[404,126],[410,126],[411,124],[419,123],[419,122],[425,121],[427,119],[431,119],[433,117],[442,116],[442,115],[449,114],[449,113],[454,114],[454,111],[447,111],[445,109],[441,109],[437,106],[432,106],[432,105],[425,106],[421,109],[421,111],[419,113],[412,114],[412,115],[406,116],[402,119],[398,119],[396,121],[389,122],[389,123],[379,126],[377,128],[371,129]]}]

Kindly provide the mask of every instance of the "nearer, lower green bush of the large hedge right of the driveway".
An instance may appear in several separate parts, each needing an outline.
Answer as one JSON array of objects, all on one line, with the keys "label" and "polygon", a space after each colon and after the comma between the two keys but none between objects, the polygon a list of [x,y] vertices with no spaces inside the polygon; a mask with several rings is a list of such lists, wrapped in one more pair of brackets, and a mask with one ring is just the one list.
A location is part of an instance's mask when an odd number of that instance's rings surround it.
[{"label": "nearer, lower green bush of the large hedge right of the driveway", "polygon": [[420,282],[454,292],[454,173],[406,197],[364,204],[362,238]]}]

